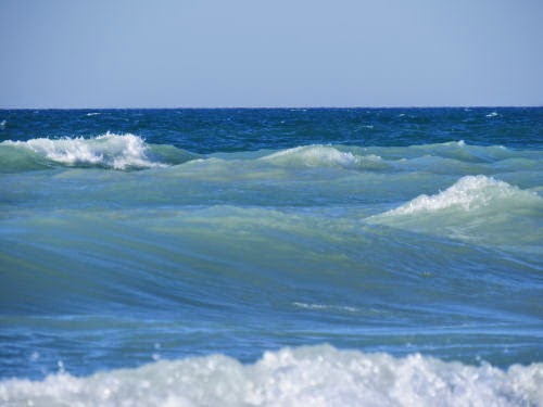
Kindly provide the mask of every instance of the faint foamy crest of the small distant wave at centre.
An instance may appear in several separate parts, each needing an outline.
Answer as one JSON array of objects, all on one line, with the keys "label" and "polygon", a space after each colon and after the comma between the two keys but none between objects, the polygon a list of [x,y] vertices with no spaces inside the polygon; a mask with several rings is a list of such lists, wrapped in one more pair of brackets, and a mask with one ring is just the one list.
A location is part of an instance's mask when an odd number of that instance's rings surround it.
[{"label": "faint foamy crest of the small distant wave at centre", "polygon": [[310,167],[338,166],[343,168],[359,168],[370,167],[375,164],[383,165],[382,158],[378,155],[358,156],[351,152],[339,151],[330,145],[302,145],[282,150],[260,160],[275,164],[298,164]]}]

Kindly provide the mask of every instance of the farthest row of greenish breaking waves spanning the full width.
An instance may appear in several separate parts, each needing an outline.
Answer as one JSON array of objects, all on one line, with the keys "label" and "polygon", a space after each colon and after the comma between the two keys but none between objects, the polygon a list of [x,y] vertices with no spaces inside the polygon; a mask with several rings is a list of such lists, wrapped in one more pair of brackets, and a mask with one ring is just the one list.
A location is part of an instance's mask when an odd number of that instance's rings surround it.
[{"label": "farthest row of greenish breaking waves spanning the full width", "polygon": [[169,144],[149,144],[142,138],[106,132],[94,138],[38,138],[0,143],[3,173],[51,167],[146,169],[168,167],[197,158],[252,162],[254,166],[341,168],[361,171],[427,170],[434,174],[487,174],[490,166],[508,170],[541,168],[541,152],[504,147],[468,145],[463,141],[403,148],[310,144],[279,151],[200,155]]}]

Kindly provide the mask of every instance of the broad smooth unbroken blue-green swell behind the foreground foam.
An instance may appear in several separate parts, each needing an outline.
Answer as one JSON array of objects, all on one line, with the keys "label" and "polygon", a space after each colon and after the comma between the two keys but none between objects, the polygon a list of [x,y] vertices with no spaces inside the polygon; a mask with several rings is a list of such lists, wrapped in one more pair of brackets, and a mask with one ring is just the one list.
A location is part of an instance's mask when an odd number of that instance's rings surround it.
[{"label": "broad smooth unbroken blue-green swell behind the foreground foam", "polygon": [[[536,291],[541,262],[535,254],[530,260],[518,251],[501,254],[493,247],[466,246],[463,239],[447,237],[444,220],[435,231],[424,221],[408,227],[371,225],[368,218],[331,219],[326,211],[304,214],[223,205],[35,214],[3,221],[2,279],[12,290],[4,290],[0,304],[4,311],[46,315],[151,308],[159,315],[179,309],[189,319],[198,309],[207,320],[226,307],[231,318],[245,321],[258,318],[258,313],[290,313],[300,304],[316,304],[305,309],[332,320],[346,309],[372,307],[431,320],[435,310],[426,304],[438,293],[445,303],[477,308],[496,292],[506,294],[512,283],[525,295]],[[538,231],[528,239],[526,231],[518,237],[514,224],[513,232],[509,226],[500,225],[502,243],[508,239],[508,244],[525,250],[536,244]],[[411,231],[419,229],[417,234]],[[469,238],[488,244],[491,237],[485,230],[470,230]],[[432,231],[441,233],[439,239],[427,236]],[[487,258],[483,264],[481,257]],[[426,292],[428,283],[432,292]],[[482,283],[487,291],[478,291]],[[401,301],[395,298],[397,290],[407,290]],[[471,297],[473,290],[479,294]],[[538,315],[515,301],[504,301],[500,308],[509,315]],[[374,317],[364,311],[346,315],[369,325],[379,322]]]}]

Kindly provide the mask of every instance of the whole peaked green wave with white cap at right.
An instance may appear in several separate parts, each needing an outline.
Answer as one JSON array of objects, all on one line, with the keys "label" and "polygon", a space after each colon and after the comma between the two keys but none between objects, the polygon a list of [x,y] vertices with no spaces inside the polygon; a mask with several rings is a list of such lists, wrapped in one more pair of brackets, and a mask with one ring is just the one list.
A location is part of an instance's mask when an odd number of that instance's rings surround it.
[{"label": "whole peaked green wave with white cap at right", "polygon": [[492,177],[465,176],[434,195],[421,194],[368,222],[447,234],[496,244],[533,244],[541,240],[534,219],[543,214],[535,192]]}]

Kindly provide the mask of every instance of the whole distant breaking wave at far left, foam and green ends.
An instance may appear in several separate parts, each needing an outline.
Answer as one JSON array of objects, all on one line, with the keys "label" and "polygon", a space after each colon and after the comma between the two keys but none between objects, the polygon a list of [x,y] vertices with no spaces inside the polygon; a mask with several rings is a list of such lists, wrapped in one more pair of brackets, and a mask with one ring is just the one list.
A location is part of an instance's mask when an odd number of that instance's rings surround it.
[{"label": "whole distant breaking wave at far left, foam and green ends", "polygon": [[0,143],[2,170],[37,169],[56,165],[141,169],[179,164],[195,154],[172,145],[151,145],[135,135],[106,132],[96,138],[38,138]]}]

